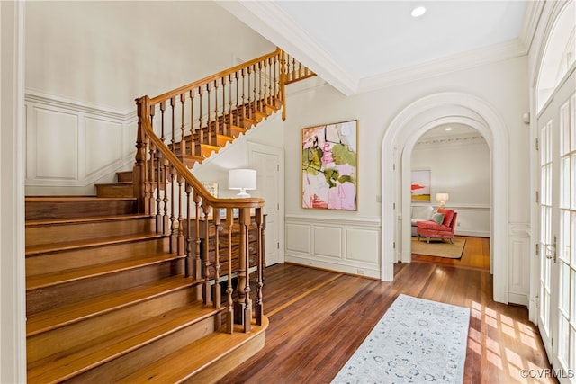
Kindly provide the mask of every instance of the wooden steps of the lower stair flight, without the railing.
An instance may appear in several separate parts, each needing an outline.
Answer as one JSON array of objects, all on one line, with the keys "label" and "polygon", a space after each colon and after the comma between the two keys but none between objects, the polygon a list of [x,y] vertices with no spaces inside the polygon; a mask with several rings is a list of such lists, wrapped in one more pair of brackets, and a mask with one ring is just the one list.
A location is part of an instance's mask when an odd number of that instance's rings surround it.
[{"label": "wooden steps of the lower stair flight, without the railing", "polygon": [[134,212],[133,198],[26,199],[28,382],[210,381],[264,344],[266,324],[222,331],[184,256]]}]

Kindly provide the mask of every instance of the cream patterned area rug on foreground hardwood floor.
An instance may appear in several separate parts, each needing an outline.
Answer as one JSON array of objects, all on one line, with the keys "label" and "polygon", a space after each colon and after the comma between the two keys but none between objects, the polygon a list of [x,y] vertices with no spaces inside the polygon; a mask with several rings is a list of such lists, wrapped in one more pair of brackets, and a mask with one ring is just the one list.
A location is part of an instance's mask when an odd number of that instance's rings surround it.
[{"label": "cream patterned area rug on foreground hardwood floor", "polygon": [[400,295],[332,383],[461,383],[470,308]]}]

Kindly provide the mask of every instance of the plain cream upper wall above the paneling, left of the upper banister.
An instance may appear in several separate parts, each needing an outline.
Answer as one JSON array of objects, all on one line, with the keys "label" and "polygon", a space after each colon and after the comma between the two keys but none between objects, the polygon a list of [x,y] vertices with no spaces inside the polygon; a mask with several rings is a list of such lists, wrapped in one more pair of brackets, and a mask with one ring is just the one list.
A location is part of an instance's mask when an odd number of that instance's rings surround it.
[{"label": "plain cream upper wall above the paneling, left of the upper banister", "polygon": [[275,46],[209,1],[26,2],[26,89],[117,110]]}]

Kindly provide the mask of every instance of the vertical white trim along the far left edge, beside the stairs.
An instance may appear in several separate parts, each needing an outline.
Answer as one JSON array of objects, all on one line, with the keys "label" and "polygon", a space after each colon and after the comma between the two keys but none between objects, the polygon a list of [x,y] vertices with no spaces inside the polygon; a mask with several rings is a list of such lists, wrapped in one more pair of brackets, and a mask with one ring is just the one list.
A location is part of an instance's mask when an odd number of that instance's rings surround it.
[{"label": "vertical white trim along the far left edge, beside the stairs", "polygon": [[0,381],[26,382],[24,12],[0,1]]}]

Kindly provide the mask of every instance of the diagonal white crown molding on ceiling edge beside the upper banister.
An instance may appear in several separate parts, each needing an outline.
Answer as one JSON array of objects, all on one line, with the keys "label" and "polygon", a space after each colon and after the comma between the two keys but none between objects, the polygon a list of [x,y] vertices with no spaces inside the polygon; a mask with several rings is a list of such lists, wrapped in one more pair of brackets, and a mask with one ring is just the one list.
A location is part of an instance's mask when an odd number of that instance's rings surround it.
[{"label": "diagonal white crown molding on ceiling edge beside the upper banister", "polygon": [[347,96],[356,94],[358,80],[320,46],[275,2],[223,0],[222,8],[281,47]]}]

